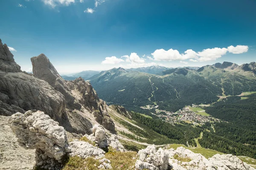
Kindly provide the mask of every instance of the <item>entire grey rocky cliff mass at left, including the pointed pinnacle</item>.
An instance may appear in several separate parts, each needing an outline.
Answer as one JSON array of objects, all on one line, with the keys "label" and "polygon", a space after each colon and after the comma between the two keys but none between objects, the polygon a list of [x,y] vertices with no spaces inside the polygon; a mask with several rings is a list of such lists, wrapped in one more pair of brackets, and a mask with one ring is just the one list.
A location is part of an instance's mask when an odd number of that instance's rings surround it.
[{"label": "entire grey rocky cliff mass at left, including the pointed pinnacle", "polygon": [[[41,110],[66,130],[92,133],[92,112],[105,128],[115,132],[106,104],[82,78],[65,81],[44,55],[31,58],[33,75],[20,70],[6,44],[0,41],[0,115]],[[93,117],[93,115],[92,115]]]}]

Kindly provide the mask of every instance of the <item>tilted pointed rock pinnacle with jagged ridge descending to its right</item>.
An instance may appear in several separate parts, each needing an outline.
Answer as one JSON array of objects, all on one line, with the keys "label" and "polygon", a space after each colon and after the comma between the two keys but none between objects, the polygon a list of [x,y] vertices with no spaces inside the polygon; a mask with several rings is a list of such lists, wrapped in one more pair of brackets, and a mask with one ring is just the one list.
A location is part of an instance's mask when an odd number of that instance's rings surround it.
[{"label": "tilted pointed rock pinnacle with jagged ridge descending to its right", "polygon": [[44,54],[31,58],[31,62],[33,76],[47,81],[55,90],[61,92],[69,109],[92,112],[99,124],[115,132],[115,126],[108,115],[105,102],[99,99],[89,82],[84,81],[83,78],[65,81]]}]

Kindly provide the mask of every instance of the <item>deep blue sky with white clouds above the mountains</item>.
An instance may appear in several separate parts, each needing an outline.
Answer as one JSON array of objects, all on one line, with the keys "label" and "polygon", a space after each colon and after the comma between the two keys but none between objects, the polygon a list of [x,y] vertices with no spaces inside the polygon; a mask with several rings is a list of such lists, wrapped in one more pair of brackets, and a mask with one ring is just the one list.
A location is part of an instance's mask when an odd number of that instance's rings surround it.
[{"label": "deep blue sky with white clouds above the mountains", "polygon": [[256,61],[255,0],[1,0],[0,38],[25,71]]}]

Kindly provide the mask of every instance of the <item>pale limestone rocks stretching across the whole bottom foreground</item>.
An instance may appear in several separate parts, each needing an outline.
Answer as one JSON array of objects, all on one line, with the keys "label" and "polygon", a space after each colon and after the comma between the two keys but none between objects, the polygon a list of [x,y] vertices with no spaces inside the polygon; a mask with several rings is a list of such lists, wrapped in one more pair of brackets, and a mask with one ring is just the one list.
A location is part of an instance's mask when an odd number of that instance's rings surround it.
[{"label": "pale limestone rocks stretching across the whole bottom foreground", "polygon": [[[93,126],[93,134],[84,135],[87,141],[75,139],[70,142],[67,141],[64,128],[41,111],[28,111],[25,114],[17,112],[9,118],[9,124],[20,146],[35,149],[34,168],[60,170],[68,158],[85,160],[91,157],[99,163],[94,164],[94,169],[120,169],[122,165],[119,168],[112,167],[111,161],[105,158],[105,151],[111,147],[115,152],[129,154],[116,135],[108,136],[98,124]],[[133,166],[128,167],[129,170],[255,170],[230,154],[216,154],[207,159],[183,147],[157,150],[151,145],[127,161],[134,162]],[[84,170],[88,169],[83,167]]]}]

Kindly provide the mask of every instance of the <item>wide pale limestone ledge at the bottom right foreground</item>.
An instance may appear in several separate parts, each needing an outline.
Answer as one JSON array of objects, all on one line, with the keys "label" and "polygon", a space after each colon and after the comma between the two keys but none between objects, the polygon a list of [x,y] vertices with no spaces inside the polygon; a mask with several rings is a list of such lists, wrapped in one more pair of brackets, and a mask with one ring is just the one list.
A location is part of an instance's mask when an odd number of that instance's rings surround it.
[{"label": "wide pale limestone ledge at the bottom right foreground", "polygon": [[135,164],[137,170],[255,170],[230,154],[216,154],[207,159],[184,147],[178,147],[177,150],[160,148],[157,151],[153,145],[140,150],[138,156],[139,160]]}]

